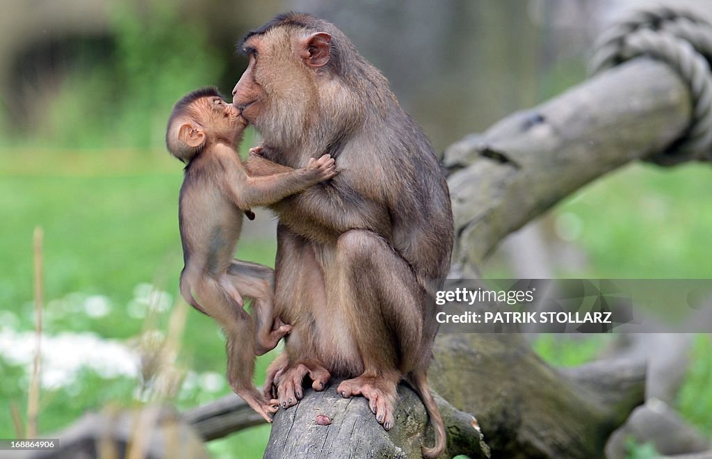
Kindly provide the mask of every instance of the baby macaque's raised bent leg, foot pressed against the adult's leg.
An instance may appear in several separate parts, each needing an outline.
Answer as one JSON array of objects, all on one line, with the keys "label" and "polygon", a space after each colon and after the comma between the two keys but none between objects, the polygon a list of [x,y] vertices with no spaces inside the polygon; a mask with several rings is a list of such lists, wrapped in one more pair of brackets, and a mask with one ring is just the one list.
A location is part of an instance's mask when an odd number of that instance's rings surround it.
[{"label": "baby macaque's raised bent leg, foot pressed against the adult's leg", "polygon": [[253,299],[253,320],[256,324],[256,355],[277,346],[279,340],[292,330],[281,318],[274,317],[274,272],[257,263],[233,260],[226,276],[241,295]]}]

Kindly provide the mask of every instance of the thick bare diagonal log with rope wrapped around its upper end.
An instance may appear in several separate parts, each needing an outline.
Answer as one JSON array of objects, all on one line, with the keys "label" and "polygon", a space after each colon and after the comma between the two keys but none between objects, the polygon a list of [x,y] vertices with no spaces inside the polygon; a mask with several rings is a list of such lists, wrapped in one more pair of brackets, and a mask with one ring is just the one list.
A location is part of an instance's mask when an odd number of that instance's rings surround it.
[{"label": "thick bare diagonal log with rope wrapped around its upper end", "polygon": [[664,63],[638,58],[445,152],[456,263],[476,267],[508,233],[581,186],[661,152],[691,116],[689,92]]}]

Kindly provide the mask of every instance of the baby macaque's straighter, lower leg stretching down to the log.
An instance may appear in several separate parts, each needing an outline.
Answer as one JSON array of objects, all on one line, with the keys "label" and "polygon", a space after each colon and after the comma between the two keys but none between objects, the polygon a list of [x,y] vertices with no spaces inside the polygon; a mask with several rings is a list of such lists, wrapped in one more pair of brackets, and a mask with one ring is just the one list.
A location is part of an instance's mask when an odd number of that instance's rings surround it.
[{"label": "baby macaque's straighter, lower leg stretching down to the log", "polygon": [[255,344],[252,339],[255,325],[252,318],[218,280],[205,275],[194,288],[207,314],[225,332],[227,379],[231,389],[267,422],[272,422],[269,413],[277,411],[276,401],[264,399],[252,382],[255,370]]}]

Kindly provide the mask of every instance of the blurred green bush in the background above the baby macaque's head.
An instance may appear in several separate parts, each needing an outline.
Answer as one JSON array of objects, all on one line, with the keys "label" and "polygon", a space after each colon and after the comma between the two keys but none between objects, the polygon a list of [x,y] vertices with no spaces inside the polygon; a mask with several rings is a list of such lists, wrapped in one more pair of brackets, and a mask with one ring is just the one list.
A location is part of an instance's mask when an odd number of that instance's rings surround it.
[{"label": "blurred green bush in the background above the baby macaque's head", "polygon": [[115,3],[110,59],[70,68],[37,139],[56,147],[161,147],[172,104],[224,64],[206,31],[159,0]]}]

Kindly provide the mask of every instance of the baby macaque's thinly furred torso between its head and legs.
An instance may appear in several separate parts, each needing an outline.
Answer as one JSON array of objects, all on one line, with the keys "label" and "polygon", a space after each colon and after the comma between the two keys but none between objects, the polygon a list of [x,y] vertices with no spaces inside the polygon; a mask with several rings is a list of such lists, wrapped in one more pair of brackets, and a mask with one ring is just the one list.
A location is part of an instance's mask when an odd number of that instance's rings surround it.
[{"label": "baby macaque's thinly furred torso between its head and legs", "polygon": [[206,149],[185,169],[178,221],[186,270],[222,273],[233,259],[243,213],[224,192],[223,167]]}]

